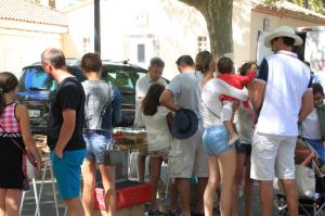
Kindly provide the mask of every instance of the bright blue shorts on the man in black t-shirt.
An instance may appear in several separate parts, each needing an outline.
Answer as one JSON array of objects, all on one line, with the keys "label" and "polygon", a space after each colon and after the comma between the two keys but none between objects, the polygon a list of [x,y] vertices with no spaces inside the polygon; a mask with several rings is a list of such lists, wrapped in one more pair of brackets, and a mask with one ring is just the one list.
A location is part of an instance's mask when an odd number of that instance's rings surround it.
[{"label": "bright blue shorts on the man in black t-shirt", "polygon": [[86,150],[64,151],[58,157],[51,152],[51,162],[56,178],[58,195],[62,200],[80,196],[80,175]]}]

